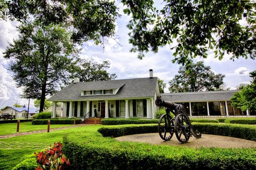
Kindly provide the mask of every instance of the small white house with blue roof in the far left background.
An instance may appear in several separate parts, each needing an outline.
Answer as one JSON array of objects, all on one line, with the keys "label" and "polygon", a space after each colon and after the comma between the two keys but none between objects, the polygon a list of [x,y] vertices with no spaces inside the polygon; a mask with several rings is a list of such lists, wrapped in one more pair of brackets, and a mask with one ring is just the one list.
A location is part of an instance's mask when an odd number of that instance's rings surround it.
[{"label": "small white house with blue roof in the far left background", "polygon": [[[1,112],[1,115],[15,115],[15,118],[27,118],[28,107],[8,107]],[[38,113],[38,109],[29,107],[29,118]]]}]

